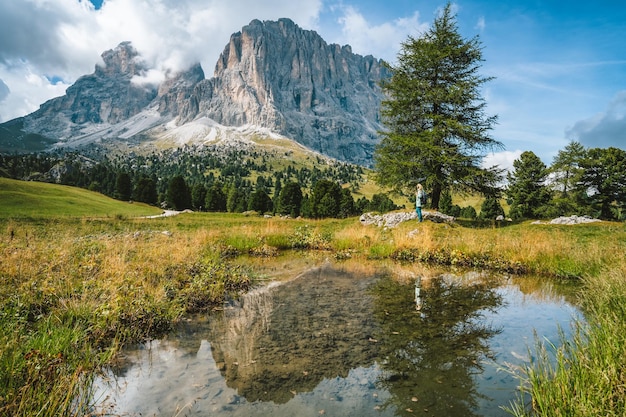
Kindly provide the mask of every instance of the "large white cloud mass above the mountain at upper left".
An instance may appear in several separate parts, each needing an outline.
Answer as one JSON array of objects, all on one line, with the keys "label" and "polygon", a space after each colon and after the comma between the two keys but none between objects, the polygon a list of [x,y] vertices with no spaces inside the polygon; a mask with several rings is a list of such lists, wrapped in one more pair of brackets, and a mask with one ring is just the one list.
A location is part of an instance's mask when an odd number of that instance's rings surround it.
[{"label": "large white cloud mass above the mountain at upper left", "polygon": [[[163,74],[200,62],[210,77],[230,35],[252,19],[288,17],[312,29],[321,8],[322,0],[105,0],[99,10],[86,0],[2,1],[0,82],[9,93],[0,101],[0,122],[64,94],[120,42],[131,41]],[[51,85],[51,78],[63,81]]]}]

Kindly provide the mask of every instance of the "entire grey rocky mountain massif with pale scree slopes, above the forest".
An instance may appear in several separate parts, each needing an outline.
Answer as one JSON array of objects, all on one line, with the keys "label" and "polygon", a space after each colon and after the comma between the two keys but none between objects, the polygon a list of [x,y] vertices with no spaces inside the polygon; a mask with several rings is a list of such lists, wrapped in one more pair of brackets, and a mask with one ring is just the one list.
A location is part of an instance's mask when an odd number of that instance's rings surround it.
[{"label": "entire grey rocky mountain massif with pale scree slopes, above the forest", "polygon": [[128,42],[102,58],[64,96],[0,124],[0,152],[181,146],[260,135],[343,161],[372,162],[386,67],[289,19],[253,20],[233,34],[212,78],[195,64],[159,85],[145,83],[150,68]]}]

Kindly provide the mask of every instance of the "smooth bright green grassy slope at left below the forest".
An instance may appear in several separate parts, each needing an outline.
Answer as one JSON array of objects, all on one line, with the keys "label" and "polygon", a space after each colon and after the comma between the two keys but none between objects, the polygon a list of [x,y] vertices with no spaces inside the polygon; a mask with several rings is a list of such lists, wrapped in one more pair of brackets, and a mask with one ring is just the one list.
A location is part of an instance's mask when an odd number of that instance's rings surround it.
[{"label": "smooth bright green grassy slope at left below the forest", "polygon": [[81,188],[0,178],[0,218],[134,217],[160,212]]}]

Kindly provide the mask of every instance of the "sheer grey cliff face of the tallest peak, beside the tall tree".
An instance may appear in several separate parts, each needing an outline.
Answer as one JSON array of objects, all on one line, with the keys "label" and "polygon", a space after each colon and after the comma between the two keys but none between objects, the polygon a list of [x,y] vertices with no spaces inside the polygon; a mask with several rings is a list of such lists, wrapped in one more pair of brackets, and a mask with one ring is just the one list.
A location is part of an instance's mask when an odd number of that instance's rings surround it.
[{"label": "sheer grey cliff face of the tallest peak, beside the tall tree", "polygon": [[205,111],[222,124],[268,127],[323,154],[365,163],[380,129],[378,83],[385,74],[373,57],[329,45],[290,20],[255,20],[220,56]]}]

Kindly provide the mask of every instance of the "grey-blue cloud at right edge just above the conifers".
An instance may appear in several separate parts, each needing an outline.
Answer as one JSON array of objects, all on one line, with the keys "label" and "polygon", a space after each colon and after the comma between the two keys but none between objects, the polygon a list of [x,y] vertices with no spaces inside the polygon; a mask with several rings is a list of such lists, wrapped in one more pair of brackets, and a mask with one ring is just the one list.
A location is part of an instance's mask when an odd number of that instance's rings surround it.
[{"label": "grey-blue cloud at right edge just above the conifers", "polygon": [[586,147],[626,149],[626,90],[617,93],[603,113],[576,122],[567,136]]}]

